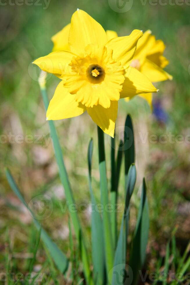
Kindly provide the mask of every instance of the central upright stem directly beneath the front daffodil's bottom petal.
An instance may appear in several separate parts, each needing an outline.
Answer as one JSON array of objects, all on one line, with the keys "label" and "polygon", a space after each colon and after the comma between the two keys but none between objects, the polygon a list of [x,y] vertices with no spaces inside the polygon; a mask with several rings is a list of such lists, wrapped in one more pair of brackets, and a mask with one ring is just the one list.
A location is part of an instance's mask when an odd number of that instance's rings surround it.
[{"label": "central upright stem directly beneath the front daffodil's bottom petal", "polygon": [[104,246],[105,246],[105,260],[106,260],[106,270],[108,275],[113,268],[114,247],[112,240],[110,215],[107,210],[109,199],[108,199],[107,176],[106,176],[106,165],[105,165],[104,133],[99,127],[98,127],[98,152],[99,152],[101,204],[103,205],[103,233],[104,233]]}]

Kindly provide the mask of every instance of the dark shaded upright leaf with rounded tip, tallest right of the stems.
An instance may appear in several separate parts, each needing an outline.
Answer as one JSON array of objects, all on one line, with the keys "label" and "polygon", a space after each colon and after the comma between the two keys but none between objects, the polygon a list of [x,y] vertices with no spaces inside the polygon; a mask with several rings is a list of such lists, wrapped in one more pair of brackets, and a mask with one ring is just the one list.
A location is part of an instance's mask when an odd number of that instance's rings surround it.
[{"label": "dark shaded upright leaf with rounded tip, tallest right of the stems", "polygon": [[125,154],[125,175],[127,176],[130,165],[135,163],[135,141],[132,126],[132,119],[127,115],[124,129],[124,154]]}]

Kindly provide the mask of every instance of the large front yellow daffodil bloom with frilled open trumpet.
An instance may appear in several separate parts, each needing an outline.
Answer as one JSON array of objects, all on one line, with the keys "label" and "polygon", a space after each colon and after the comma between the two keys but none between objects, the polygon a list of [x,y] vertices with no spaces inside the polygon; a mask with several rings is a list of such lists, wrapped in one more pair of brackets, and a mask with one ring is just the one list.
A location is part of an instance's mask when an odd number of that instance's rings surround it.
[{"label": "large front yellow daffodil bloom with frilled open trumpet", "polygon": [[78,116],[85,111],[107,134],[114,136],[118,100],[157,92],[150,80],[130,66],[143,33],[111,36],[83,10],[53,36],[53,52],[34,61],[62,81],[47,110],[47,120]]}]

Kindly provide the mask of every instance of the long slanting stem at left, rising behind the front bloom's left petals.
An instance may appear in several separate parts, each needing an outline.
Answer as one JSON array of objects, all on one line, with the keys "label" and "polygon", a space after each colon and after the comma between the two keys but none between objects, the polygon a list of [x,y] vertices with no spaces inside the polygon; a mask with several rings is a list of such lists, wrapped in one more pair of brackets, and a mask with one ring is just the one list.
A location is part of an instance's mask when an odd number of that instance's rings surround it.
[{"label": "long slanting stem at left, rising behind the front bloom's left petals", "polygon": [[[49,101],[47,98],[45,84],[44,85],[40,84],[40,90],[42,93],[44,106],[45,106],[45,109],[47,111],[47,108],[49,106]],[[61,180],[63,187],[64,187],[64,190],[65,190],[66,199],[69,202],[69,205],[71,205],[71,204],[76,205],[73,194],[72,194],[71,186],[69,183],[69,179],[67,176],[67,170],[66,170],[65,165],[64,165],[62,150],[61,150],[61,146],[59,143],[59,139],[58,139],[58,135],[57,135],[54,123],[51,120],[48,122],[49,122],[51,138],[53,141],[53,147],[54,147],[54,151],[55,151],[55,158],[56,158],[58,168],[59,168],[60,180]],[[84,268],[84,273],[85,273],[85,277],[87,280],[87,284],[92,284],[92,277],[91,277],[91,272],[90,272],[90,268],[89,268],[88,254],[87,254],[87,250],[85,247],[84,238],[82,236],[82,229],[81,229],[80,221],[78,219],[78,214],[75,211],[72,211],[72,212],[70,212],[70,215],[71,215],[71,219],[72,219],[72,222],[74,225],[74,230],[75,230],[77,240],[78,241],[81,240],[81,257],[82,257],[82,261],[83,261],[83,268]]]}]

